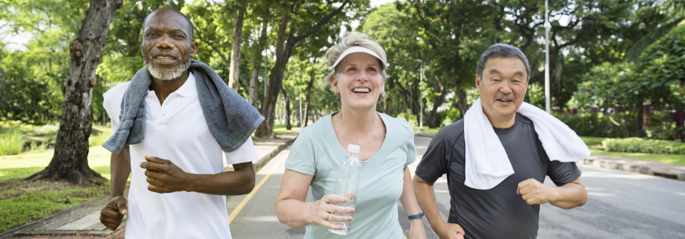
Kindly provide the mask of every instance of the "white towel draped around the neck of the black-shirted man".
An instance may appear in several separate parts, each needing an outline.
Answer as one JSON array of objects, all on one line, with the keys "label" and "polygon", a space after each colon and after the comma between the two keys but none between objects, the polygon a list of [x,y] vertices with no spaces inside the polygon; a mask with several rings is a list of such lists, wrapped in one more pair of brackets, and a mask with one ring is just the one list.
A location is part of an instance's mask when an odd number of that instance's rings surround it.
[{"label": "white towel draped around the neck of the black-shirted man", "polygon": [[[576,162],[590,156],[590,150],[583,140],[556,117],[526,102],[523,102],[516,112],[533,122],[535,132],[543,143],[549,160]],[[514,174],[495,129],[483,113],[480,99],[476,100],[464,115],[464,140],[466,186],[488,190]]]}]

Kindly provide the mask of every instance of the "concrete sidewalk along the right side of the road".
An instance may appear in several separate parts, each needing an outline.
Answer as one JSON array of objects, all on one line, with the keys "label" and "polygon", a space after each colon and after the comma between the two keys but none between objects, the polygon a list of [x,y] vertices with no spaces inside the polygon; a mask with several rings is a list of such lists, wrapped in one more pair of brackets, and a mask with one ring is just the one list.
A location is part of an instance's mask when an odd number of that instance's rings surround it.
[{"label": "concrete sidewalk along the right side of the road", "polygon": [[[435,134],[427,132],[416,132],[416,136],[432,138]],[[649,175],[660,176],[664,178],[673,178],[675,180],[685,181],[685,166],[673,165],[669,163],[658,163],[649,160],[640,160],[635,158],[621,158],[615,156],[606,156],[599,154],[592,154],[590,157],[578,162],[584,165],[594,165],[607,169],[616,169],[621,171],[630,171],[635,173],[643,173]]]}]

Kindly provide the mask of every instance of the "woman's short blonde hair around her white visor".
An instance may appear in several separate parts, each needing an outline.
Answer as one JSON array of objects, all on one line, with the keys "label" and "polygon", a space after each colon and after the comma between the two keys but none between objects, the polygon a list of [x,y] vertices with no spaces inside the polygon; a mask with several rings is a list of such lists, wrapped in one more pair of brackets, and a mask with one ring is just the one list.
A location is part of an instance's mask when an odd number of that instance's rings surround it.
[{"label": "woman's short blonde hair around her white visor", "polygon": [[[381,57],[382,62],[379,62],[378,65],[380,66],[380,74],[383,77],[383,83],[386,83],[386,79],[388,79],[388,74],[386,74],[386,62],[388,62],[388,58],[386,56],[386,52],[383,50],[383,46],[381,44],[378,44],[378,42],[375,42],[369,38],[364,33],[358,33],[358,32],[346,32],[343,34],[343,38],[340,38],[340,42],[338,44],[332,46],[331,48],[326,51],[326,58],[328,59],[328,65],[333,66],[333,64],[336,63],[338,60],[338,57],[340,57],[341,54],[347,48],[350,48],[352,46],[363,46],[365,48],[368,48],[369,50],[373,51],[374,53],[378,54],[379,57]],[[333,83],[333,77],[340,77],[340,72],[338,70],[340,64],[336,66],[327,76],[323,78],[323,83],[331,85]],[[382,92],[379,100],[382,100],[386,98],[385,96],[385,91]]]}]

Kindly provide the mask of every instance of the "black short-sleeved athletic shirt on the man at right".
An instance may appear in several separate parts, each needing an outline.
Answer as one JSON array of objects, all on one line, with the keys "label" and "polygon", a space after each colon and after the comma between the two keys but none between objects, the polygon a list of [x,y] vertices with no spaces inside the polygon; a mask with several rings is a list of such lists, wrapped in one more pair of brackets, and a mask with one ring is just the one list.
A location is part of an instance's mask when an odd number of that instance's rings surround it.
[{"label": "black short-sleeved athletic shirt on the man at right", "polygon": [[[516,195],[519,182],[545,175],[562,186],[580,177],[575,163],[550,161],[533,128],[533,122],[516,113],[510,128],[495,128],[514,169],[503,182],[489,190],[464,185],[463,119],[440,129],[423,154],[416,175],[429,183],[447,173],[451,197],[449,223],[457,223],[465,238],[536,238],[540,205],[529,206]],[[486,145],[487,148],[487,145]]]}]

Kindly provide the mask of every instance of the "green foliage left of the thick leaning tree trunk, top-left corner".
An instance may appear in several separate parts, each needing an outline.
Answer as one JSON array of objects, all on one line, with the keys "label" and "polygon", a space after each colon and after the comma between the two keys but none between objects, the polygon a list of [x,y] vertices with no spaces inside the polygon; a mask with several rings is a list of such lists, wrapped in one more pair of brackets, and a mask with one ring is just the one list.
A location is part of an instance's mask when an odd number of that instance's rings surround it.
[{"label": "green foliage left of the thick leaning tree trunk, top-left corner", "polygon": [[[23,45],[1,48],[0,117],[23,121],[58,118],[69,68],[68,45],[88,8],[85,0],[6,1],[0,14],[5,34],[31,36]],[[18,47],[17,47],[18,46]]]}]

